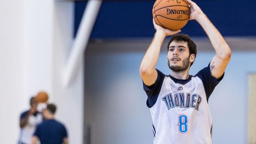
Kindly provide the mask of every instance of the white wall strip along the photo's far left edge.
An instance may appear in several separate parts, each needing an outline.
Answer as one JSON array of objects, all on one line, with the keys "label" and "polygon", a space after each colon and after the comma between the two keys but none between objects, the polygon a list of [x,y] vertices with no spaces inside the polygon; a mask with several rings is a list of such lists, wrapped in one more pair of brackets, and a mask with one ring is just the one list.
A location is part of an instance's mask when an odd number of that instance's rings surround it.
[{"label": "white wall strip along the photo's far left edge", "polygon": [[19,115],[27,108],[24,95],[24,0],[0,2],[0,143],[15,144]]}]

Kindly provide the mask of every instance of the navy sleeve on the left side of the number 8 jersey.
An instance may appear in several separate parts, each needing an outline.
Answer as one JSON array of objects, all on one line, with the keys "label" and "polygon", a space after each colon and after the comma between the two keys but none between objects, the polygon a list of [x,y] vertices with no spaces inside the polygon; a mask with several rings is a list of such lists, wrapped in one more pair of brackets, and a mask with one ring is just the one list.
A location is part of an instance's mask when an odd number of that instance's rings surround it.
[{"label": "navy sleeve on the left side of the number 8 jersey", "polygon": [[156,69],[156,71],[157,71],[156,82],[152,84],[152,86],[147,86],[143,82],[143,88],[148,96],[148,100],[146,102],[148,108],[151,108],[156,103],[156,100],[158,98],[158,95],[160,93],[160,90],[162,88],[162,84],[164,81],[165,75],[162,72],[160,72],[158,69]]}]

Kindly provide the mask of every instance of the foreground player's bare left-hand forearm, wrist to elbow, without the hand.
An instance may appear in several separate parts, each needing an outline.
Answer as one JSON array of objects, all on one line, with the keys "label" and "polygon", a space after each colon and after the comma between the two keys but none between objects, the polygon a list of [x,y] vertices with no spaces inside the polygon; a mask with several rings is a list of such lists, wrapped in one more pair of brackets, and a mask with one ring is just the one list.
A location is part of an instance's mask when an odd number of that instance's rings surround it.
[{"label": "foreground player's bare left-hand forearm, wrist to elbow, without the hand", "polygon": [[155,33],[154,38],[140,64],[140,74],[150,74],[154,72],[165,37],[166,34],[164,32],[157,31]]}]

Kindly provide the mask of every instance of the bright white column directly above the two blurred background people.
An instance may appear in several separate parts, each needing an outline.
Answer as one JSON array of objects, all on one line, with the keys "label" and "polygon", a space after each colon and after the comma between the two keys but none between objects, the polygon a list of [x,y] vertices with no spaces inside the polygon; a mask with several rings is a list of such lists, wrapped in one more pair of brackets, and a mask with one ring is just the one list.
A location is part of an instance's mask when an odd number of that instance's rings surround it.
[{"label": "bright white column directly above the two blurred background people", "polygon": [[53,6],[52,0],[25,0],[25,94],[45,90],[52,99]]}]

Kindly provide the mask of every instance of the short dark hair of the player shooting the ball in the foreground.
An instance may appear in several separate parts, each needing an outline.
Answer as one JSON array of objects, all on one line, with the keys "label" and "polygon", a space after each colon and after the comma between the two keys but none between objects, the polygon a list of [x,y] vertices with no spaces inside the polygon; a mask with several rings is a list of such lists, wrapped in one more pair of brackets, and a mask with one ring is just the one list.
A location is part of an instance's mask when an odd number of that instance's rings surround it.
[{"label": "short dark hair of the player shooting the ball in the foreground", "polygon": [[[191,54],[195,55],[195,59],[196,59],[196,44],[193,42],[193,40],[186,34],[175,34],[172,36],[172,38],[170,39],[170,41],[168,42],[167,45],[167,50],[169,50],[169,46],[171,44],[172,41],[175,42],[187,42],[188,43],[188,49],[189,49],[189,56]],[[192,66],[194,62],[191,63],[190,66]]]}]

